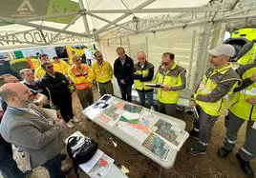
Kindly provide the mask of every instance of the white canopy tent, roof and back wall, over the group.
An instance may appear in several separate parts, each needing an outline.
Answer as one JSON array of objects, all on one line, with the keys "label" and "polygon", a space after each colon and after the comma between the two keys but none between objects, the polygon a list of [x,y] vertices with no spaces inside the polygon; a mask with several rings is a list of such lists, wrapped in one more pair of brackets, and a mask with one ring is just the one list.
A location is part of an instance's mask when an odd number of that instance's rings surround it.
[{"label": "white canopy tent, roof and back wall, over the group", "polygon": [[[156,69],[161,54],[172,51],[187,70],[182,93],[187,98],[206,69],[206,50],[222,43],[225,29],[256,22],[255,0],[73,0],[79,10],[60,6],[47,15],[35,14],[35,0],[16,1],[12,14],[19,18],[0,14],[0,49],[96,43],[113,64],[117,47],[123,46],[134,59],[139,50],[146,51]],[[61,0],[45,1],[42,8]],[[61,17],[71,20],[49,21]]]}]

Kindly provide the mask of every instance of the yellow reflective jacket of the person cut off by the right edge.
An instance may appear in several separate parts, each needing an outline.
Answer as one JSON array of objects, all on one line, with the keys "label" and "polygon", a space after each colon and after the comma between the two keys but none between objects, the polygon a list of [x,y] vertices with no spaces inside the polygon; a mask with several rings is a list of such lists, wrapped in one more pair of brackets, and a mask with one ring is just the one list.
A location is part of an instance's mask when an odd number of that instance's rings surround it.
[{"label": "yellow reflective jacket of the person cut off by the right edge", "polygon": [[[245,71],[242,74],[242,79],[250,78],[254,72],[256,72],[256,64],[246,65]],[[231,101],[229,110],[236,116],[245,120],[256,120],[256,107],[247,103],[247,98],[256,97],[256,82],[253,82],[250,86],[246,87],[235,93]]]}]

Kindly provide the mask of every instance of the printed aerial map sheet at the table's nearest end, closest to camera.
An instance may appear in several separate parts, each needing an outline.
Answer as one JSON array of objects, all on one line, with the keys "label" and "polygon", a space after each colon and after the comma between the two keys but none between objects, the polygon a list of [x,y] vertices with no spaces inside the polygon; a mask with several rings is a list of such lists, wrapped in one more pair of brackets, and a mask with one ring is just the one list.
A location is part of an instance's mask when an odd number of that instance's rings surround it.
[{"label": "printed aerial map sheet at the table's nearest end, closest to camera", "polygon": [[171,145],[154,132],[151,132],[151,134],[142,143],[142,146],[149,149],[162,160],[166,160],[171,149]]}]

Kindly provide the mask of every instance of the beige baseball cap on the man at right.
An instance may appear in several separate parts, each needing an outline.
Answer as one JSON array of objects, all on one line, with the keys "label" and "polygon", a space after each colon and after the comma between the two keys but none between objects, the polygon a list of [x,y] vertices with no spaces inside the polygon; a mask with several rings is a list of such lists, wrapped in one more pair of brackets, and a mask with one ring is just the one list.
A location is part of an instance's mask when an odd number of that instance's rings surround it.
[{"label": "beige baseball cap on the man at right", "polygon": [[220,45],[218,47],[215,47],[214,49],[208,50],[208,52],[211,55],[219,56],[219,55],[227,55],[229,57],[233,57],[236,53],[236,50],[234,49],[233,46],[224,44]]}]

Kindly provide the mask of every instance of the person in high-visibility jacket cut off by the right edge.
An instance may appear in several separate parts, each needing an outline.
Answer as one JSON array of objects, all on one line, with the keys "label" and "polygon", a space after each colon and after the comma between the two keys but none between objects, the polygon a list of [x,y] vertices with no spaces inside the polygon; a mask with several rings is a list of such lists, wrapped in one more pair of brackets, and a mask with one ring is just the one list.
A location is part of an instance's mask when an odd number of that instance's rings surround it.
[{"label": "person in high-visibility jacket cut off by the right edge", "polygon": [[245,174],[253,177],[249,162],[256,156],[256,63],[242,66],[236,71],[243,83],[241,87],[234,89],[235,95],[225,119],[224,146],[217,154],[225,158],[235,148],[238,130],[247,121],[245,145],[240,148],[236,157]]}]

